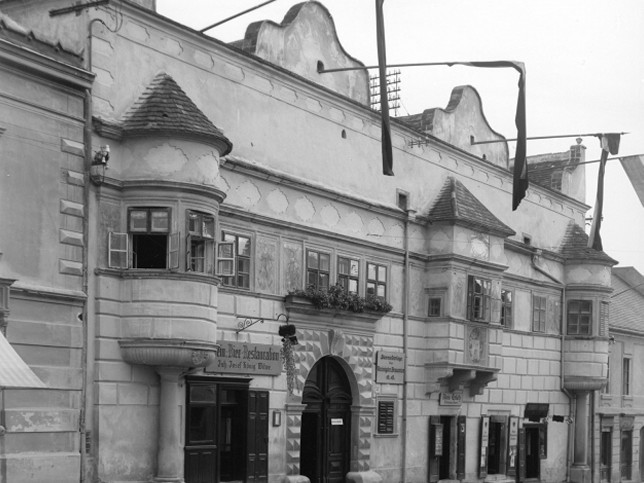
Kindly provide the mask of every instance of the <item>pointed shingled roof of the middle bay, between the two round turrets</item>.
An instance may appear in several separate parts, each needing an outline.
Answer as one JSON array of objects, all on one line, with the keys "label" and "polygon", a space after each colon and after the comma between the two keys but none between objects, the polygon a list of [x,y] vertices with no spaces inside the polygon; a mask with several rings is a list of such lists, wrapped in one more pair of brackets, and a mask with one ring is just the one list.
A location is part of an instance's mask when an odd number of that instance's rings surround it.
[{"label": "pointed shingled roof of the middle bay, between the two round turrets", "polygon": [[448,221],[474,226],[486,233],[501,236],[515,231],[494,216],[460,181],[448,177],[429,212],[432,222]]}]

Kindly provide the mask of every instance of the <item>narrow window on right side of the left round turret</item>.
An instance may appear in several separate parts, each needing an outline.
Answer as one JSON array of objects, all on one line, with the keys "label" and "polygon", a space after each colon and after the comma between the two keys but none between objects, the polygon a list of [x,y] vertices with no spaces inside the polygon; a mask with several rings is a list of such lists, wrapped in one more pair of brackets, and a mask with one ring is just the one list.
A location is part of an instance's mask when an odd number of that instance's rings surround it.
[{"label": "narrow window on right side of the left round turret", "polygon": [[186,271],[212,274],[215,269],[215,217],[188,211],[186,221]]}]

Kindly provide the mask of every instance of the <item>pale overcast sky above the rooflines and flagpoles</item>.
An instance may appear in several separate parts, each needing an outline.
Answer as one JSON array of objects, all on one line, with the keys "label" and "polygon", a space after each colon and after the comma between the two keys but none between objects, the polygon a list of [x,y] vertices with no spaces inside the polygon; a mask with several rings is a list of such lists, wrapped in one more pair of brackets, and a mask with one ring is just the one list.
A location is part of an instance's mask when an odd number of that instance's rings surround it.
[{"label": "pale overcast sky above the rooflines and flagpoles", "polygon": [[[161,15],[200,30],[263,0],[157,0]],[[276,0],[207,32],[224,42],[257,20],[280,23],[298,3]],[[377,64],[374,0],[323,0],[347,53]],[[528,136],[628,132],[620,155],[644,154],[643,0],[385,0],[389,64],[518,60],[527,71]],[[400,115],[446,107],[453,87],[474,86],[494,130],[516,137],[517,74],[511,69],[402,69]],[[528,155],[565,151],[574,138],[529,141]],[[586,159],[599,159],[584,137]],[[514,152],[514,145],[510,145]],[[597,164],[587,166],[594,205]],[[519,208],[520,209],[520,208]],[[592,209],[588,216],[592,216]],[[619,161],[606,170],[602,239],[620,266],[644,273],[644,208]]]}]

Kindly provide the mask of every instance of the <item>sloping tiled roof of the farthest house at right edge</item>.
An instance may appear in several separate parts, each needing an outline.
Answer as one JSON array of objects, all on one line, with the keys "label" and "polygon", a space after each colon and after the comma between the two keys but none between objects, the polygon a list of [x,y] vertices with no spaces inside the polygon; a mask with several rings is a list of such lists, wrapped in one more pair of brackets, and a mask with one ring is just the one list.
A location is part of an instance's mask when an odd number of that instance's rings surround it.
[{"label": "sloping tiled roof of the farthest house at right edge", "polygon": [[644,276],[633,267],[613,268],[609,325],[644,334]]}]

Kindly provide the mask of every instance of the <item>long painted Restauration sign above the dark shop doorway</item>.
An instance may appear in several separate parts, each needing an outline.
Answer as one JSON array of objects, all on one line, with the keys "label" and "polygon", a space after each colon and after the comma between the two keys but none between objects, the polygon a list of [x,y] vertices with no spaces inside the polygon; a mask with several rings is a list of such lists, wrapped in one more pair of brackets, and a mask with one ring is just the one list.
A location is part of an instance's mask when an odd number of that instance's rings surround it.
[{"label": "long painted Restauration sign above the dark shop doorway", "polygon": [[282,372],[282,348],[279,345],[221,342],[217,357],[206,367],[206,372],[279,376]]}]

